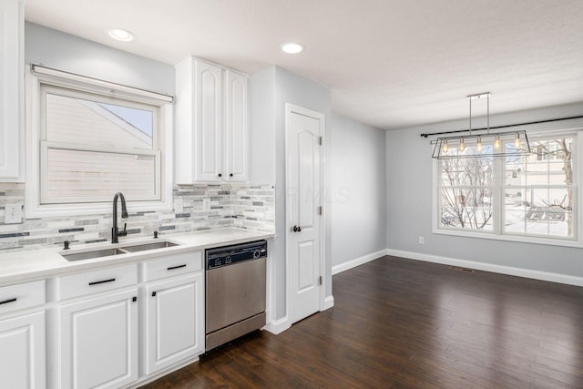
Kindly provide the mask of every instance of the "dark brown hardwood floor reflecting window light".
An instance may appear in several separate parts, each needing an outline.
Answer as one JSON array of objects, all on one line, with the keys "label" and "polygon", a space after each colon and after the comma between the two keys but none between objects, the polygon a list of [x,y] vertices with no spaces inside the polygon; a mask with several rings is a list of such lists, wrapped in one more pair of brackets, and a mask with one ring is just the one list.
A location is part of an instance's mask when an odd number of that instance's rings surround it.
[{"label": "dark brown hardwood floor reflecting window light", "polygon": [[384,257],[146,388],[583,388],[583,288]]}]

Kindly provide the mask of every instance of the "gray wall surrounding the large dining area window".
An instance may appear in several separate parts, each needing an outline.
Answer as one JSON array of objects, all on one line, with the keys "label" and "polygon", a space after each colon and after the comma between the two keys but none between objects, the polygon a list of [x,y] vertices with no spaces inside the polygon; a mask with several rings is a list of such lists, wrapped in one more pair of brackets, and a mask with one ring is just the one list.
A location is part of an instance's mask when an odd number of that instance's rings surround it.
[{"label": "gray wall surrounding the large dining area window", "polygon": [[[583,104],[493,116],[491,126],[583,114]],[[559,128],[583,120],[537,125]],[[466,129],[467,120],[387,131],[387,247],[466,261],[583,276],[581,249],[432,233],[432,138],[422,133]],[[580,204],[580,202],[579,202]],[[424,245],[418,237],[424,237]]]}]

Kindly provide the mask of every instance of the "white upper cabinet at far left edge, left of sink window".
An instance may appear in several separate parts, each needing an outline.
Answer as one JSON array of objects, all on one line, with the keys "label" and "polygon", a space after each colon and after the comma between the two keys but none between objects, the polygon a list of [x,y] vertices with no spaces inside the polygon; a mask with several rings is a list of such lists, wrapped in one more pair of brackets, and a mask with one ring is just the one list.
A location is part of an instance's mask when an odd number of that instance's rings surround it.
[{"label": "white upper cabinet at far left edge, left of sink window", "polygon": [[25,5],[0,2],[0,182],[22,180]]}]

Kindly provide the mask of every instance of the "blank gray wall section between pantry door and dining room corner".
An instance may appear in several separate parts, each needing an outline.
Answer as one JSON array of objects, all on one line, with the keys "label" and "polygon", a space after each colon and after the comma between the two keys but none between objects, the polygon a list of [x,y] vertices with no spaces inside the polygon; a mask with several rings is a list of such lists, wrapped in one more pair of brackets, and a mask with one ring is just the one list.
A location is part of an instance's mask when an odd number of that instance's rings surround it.
[{"label": "blank gray wall section between pantry door and dining room corner", "polygon": [[332,114],[332,267],[386,249],[386,132]]}]

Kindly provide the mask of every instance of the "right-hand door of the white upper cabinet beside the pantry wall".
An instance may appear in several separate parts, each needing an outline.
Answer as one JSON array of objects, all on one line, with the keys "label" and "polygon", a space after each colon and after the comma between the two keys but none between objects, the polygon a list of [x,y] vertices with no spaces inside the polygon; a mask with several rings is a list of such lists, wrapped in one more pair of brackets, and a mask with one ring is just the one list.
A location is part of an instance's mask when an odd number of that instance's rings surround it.
[{"label": "right-hand door of the white upper cabinet beside the pantry wall", "polygon": [[223,176],[249,180],[249,108],[247,76],[225,71]]}]

